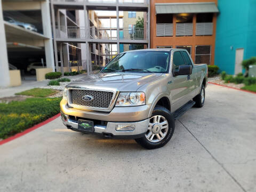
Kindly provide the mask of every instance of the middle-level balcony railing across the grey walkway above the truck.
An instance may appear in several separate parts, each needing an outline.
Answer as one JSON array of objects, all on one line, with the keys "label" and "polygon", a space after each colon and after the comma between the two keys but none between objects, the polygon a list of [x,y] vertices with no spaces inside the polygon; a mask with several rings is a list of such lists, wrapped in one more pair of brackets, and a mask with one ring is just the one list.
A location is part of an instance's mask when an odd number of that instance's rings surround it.
[{"label": "middle-level balcony railing across the grey walkway above the truck", "polygon": [[[77,26],[57,26],[57,38],[92,38],[92,39],[117,39],[116,28],[95,28],[77,27]],[[147,39],[147,33],[144,28],[121,28],[119,29],[120,39]],[[122,32],[121,32],[122,31]],[[111,34],[110,34],[111,33]]]}]

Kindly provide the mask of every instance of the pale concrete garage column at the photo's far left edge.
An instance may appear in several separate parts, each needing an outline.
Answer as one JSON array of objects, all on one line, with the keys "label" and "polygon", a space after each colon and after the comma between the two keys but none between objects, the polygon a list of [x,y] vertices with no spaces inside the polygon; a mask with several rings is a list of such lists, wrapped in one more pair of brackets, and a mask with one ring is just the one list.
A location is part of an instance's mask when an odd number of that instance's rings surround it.
[{"label": "pale concrete garage column at the photo's far left edge", "polygon": [[5,87],[10,85],[10,73],[9,73],[9,64],[7,56],[7,46],[4,30],[4,19],[3,19],[3,10],[2,2],[0,1],[0,86]]}]

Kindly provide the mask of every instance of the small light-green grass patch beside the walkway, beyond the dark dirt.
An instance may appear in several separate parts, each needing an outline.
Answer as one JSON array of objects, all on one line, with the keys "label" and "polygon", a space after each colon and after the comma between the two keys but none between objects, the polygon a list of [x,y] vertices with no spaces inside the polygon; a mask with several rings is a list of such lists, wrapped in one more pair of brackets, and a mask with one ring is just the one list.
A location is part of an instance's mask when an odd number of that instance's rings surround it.
[{"label": "small light-green grass patch beside the walkway, beyond the dark dirt", "polygon": [[44,97],[48,97],[50,95],[53,95],[57,92],[58,91],[52,90],[52,89],[34,88],[34,89],[19,92],[19,93],[15,93],[15,94],[44,98]]}]

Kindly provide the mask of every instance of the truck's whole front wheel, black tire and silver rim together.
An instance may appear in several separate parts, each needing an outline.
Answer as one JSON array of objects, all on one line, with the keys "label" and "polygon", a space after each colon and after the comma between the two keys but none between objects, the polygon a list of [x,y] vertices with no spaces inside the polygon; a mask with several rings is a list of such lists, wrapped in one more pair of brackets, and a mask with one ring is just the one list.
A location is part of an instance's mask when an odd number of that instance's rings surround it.
[{"label": "truck's whole front wheel, black tire and silver rim together", "polygon": [[174,128],[175,123],[171,112],[162,106],[156,106],[149,119],[146,134],[135,141],[146,149],[163,147],[172,138]]}]

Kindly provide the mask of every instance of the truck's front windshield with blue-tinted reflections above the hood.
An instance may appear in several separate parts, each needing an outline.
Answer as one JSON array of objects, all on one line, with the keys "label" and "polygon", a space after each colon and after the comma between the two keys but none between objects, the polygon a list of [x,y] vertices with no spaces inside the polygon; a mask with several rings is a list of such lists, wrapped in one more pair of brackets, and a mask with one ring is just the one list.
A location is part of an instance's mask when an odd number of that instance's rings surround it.
[{"label": "truck's front windshield with blue-tinted reflections above the hood", "polygon": [[166,73],[170,52],[131,51],[118,54],[101,72],[139,71],[145,73]]}]

